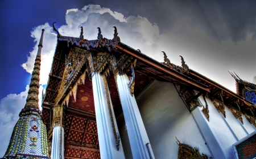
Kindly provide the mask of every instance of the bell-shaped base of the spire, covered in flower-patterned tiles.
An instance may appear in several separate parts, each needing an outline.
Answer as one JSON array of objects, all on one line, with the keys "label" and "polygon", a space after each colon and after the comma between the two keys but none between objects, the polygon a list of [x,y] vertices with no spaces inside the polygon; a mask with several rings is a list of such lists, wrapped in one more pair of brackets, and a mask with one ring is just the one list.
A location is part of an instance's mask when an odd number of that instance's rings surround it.
[{"label": "bell-shaped base of the spire, covered in flower-patterned tiles", "polygon": [[16,123],[5,157],[17,153],[48,156],[46,126],[39,115],[20,117]]}]

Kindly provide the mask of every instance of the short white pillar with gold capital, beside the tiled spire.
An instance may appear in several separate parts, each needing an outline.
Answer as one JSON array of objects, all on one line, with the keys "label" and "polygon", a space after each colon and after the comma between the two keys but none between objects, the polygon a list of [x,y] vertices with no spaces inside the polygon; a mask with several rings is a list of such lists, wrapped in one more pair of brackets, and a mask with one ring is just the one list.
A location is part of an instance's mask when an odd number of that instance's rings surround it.
[{"label": "short white pillar with gold capital, beside the tiled spire", "polygon": [[63,127],[63,106],[53,107],[53,131],[52,131],[52,159],[64,159],[64,127]]}]

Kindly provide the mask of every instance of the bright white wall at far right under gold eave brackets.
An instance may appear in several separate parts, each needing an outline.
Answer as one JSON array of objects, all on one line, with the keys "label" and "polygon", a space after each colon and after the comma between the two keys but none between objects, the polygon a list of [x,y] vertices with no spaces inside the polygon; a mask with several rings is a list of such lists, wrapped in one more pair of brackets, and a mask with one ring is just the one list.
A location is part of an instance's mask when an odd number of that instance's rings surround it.
[{"label": "bright white wall at far right under gold eave brackets", "polygon": [[[199,100],[203,105],[205,105],[203,95],[199,97]],[[220,103],[220,101],[216,101],[217,104]],[[225,106],[226,118],[223,118],[221,114],[218,113],[217,109],[214,107],[209,98],[207,98],[207,102],[209,106],[210,121],[208,122],[207,119],[204,118],[205,123],[208,124],[214,137],[216,137],[216,140],[224,152],[225,157],[230,159],[234,158],[234,150],[232,145],[238,140],[241,140],[243,137],[247,136],[246,131],[249,134],[255,131],[254,127],[247,121],[245,117],[243,117],[243,127],[245,127],[245,131],[241,126],[240,121],[234,117],[227,106]],[[203,108],[200,108],[200,110],[202,109]],[[201,115],[204,115],[203,111],[201,111]]]}]

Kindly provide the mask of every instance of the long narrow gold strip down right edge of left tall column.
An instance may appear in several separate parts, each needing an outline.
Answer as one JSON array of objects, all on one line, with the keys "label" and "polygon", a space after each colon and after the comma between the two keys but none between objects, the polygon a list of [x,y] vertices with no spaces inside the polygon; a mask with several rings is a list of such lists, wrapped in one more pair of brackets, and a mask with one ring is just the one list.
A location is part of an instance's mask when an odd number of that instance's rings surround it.
[{"label": "long narrow gold strip down right edge of left tall column", "polygon": [[112,122],[112,128],[113,128],[114,137],[115,137],[115,143],[116,143],[116,146],[117,146],[117,150],[119,150],[119,142],[120,142],[119,137],[120,136],[119,136],[118,132],[115,130],[113,112],[112,112],[112,108],[111,108],[112,106],[111,106],[110,97],[109,97],[109,87],[108,87],[108,83],[106,81],[105,76],[103,76],[103,80],[104,80],[104,88],[105,88],[105,92],[106,92],[106,98],[107,98],[107,101],[108,101],[109,114],[110,114],[110,118],[111,118],[111,122]]}]

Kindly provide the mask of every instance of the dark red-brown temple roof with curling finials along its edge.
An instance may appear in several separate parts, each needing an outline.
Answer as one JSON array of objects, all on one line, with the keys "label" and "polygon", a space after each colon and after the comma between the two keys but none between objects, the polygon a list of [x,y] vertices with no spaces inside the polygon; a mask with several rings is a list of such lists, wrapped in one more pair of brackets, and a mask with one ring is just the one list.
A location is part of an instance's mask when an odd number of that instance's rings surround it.
[{"label": "dark red-brown temple roof with curling finials along its edge", "polygon": [[[135,75],[138,74],[140,79],[138,80],[138,78],[135,78],[135,95],[142,92],[143,89],[147,87],[146,84],[149,84],[152,80],[155,79],[186,85],[187,87],[195,89],[201,93],[208,92],[219,100],[221,99],[219,92],[222,90],[224,91],[224,102],[231,102],[232,105],[236,108],[236,101],[239,99],[239,105],[241,105],[241,109],[243,111],[249,110],[249,106],[246,105],[244,101],[253,105],[253,103],[247,101],[241,96],[238,96],[238,94],[197,73],[196,71],[189,69],[188,66],[185,65],[183,57],[181,57],[182,65],[177,66],[173,63],[168,63],[168,58],[164,53],[165,62],[161,63],[141,53],[140,50],[133,49],[130,46],[120,42],[120,38],[117,36],[118,33],[116,28],[114,29],[113,39],[103,38],[100,28],[98,28],[98,30],[99,32],[96,40],[84,39],[82,36],[82,31],[80,37],[62,36],[58,33],[58,44],[56,47],[55,56],[53,57],[52,70],[49,74],[47,93],[44,99],[43,107],[46,106],[49,108],[49,106],[53,105],[55,102],[57,89],[60,87],[62,74],[65,67],[65,55],[68,54],[70,48],[72,47],[94,52],[107,51],[112,54],[122,53],[131,55],[132,57],[136,58],[137,64],[134,68],[134,71]],[[136,75],[136,77],[138,77],[138,75]],[[143,78],[140,75],[143,75]],[[144,81],[147,82],[144,83]],[[141,87],[140,85],[144,86]],[[253,111],[256,113],[255,109],[253,109]]]}]

